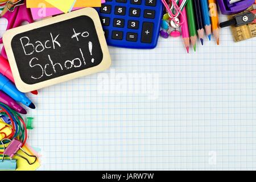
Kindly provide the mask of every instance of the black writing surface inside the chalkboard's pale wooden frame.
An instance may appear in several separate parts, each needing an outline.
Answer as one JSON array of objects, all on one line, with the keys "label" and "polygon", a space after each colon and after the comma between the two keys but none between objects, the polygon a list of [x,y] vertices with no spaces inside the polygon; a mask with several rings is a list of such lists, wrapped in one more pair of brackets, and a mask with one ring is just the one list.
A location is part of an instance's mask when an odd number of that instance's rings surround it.
[{"label": "black writing surface inside the chalkboard's pale wooden frame", "polygon": [[93,20],[85,15],[15,35],[11,47],[27,84],[95,67],[103,58]]}]

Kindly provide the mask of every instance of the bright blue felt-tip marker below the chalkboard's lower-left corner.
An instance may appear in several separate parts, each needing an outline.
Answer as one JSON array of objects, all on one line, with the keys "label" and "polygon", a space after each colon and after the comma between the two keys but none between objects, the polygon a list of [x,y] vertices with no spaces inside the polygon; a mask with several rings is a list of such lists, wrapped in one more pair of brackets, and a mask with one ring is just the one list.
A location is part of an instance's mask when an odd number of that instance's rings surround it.
[{"label": "bright blue felt-tip marker below the chalkboard's lower-left corner", "polygon": [[21,102],[22,104],[30,107],[31,109],[35,109],[35,105],[26,97],[26,95],[16,88],[16,86],[8,80],[5,76],[0,73],[0,90],[5,92],[11,98],[13,98],[17,102]]}]

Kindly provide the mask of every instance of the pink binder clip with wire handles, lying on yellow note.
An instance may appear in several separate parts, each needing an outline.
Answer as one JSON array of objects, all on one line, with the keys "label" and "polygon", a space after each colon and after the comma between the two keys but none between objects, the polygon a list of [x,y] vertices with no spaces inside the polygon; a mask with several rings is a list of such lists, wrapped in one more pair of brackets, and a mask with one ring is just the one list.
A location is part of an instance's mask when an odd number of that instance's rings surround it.
[{"label": "pink binder clip with wire handles, lying on yellow note", "polygon": [[[10,141],[10,144],[9,146],[6,147],[5,151],[3,151],[3,155],[7,155],[7,156],[10,156],[10,159],[13,158],[14,155],[16,156],[19,156],[20,158],[24,159],[27,161],[28,164],[32,165],[36,162],[37,160],[37,157],[35,155],[30,155],[30,154],[27,154],[26,151],[24,151],[21,146],[22,146],[22,143],[17,140],[17,139],[13,139],[13,140],[10,140],[10,139],[2,139],[1,143],[3,144],[3,140],[9,140]],[[34,162],[30,163],[30,161],[25,158],[24,156],[22,155],[19,155],[17,154],[16,152],[18,152],[19,150],[21,150],[22,152],[24,152],[24,154],[26,154],[27,156],[30,156],[32,158],[35,158]]]}]

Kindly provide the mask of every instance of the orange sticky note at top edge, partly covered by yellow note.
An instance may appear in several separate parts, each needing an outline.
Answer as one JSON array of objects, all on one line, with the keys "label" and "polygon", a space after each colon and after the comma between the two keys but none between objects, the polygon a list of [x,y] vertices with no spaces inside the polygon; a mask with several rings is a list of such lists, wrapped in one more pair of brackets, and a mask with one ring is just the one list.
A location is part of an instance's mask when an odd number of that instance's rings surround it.
[{"label": "orange sticky note at top edge, partly covered by yellow note", "polygon": [[[61,2],[63,3],[63,1]],[[55,7],[46,0],[27,0],[26,3],[29,8],[42,7],[42,4],[44,5],[43,7]],[[101,7],[101,0],[76,0],[74,7]]]}]

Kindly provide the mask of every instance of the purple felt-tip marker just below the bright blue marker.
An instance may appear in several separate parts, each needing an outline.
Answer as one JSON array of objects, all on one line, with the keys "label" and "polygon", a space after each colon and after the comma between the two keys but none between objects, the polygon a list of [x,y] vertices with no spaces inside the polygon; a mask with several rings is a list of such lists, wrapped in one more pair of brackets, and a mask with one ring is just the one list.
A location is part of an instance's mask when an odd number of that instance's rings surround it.
[{"label": "purple felt-tip marker just below the bright blue marker", "polygon": [[18,105],[11,97],[0,91],[0,102],[11,107],[20,114],[27,114],[27,111],[22,106]]}]

